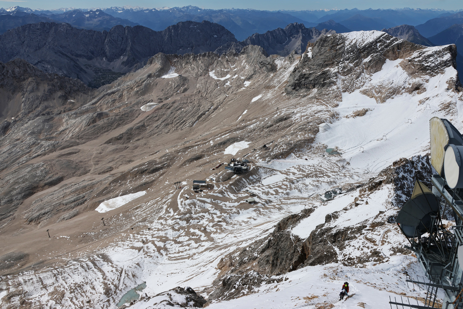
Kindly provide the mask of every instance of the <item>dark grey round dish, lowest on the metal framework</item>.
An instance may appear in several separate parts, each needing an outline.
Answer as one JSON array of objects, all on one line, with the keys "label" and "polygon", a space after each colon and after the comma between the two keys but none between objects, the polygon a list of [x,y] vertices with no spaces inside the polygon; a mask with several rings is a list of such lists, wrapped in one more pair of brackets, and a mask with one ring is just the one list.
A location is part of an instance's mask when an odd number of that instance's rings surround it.
[{"label": "dark grey round dish, lowest on the metal framework", "polygon": [[437,215],[438,210],[436,196],[424,183],[417,181],[412,197],[402,206],[395,221],[406,237],[416,238],[431,230],[431,216]]}]

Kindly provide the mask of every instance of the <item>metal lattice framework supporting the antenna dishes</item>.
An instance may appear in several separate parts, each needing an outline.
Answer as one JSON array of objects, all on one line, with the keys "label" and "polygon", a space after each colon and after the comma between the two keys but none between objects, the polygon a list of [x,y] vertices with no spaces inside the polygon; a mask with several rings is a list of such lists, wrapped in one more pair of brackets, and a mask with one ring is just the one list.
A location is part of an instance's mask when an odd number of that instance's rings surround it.
[{"label": "metal lattice framework supporting the antenna dishes", "polygon": [[[404,302],[400,297],[400,302],[395,298],[394,301],[389,301],[391,309],[392,305],[396,308],[440,308],[436,302],[438,289],[444,291],[443,309],[463,309],[463,265],[460,265],[458,261],[458,248],[463,246],[463,198],[461,196],[463,190],[460,192],[460,189],[450,189],[445,179],[439,175],[433,175],[431,181],[433,187],[445,200],[444,208],[443,210],[439,208],[438,214],[432,216],[431,228],[427,230],[428,237],[407,238],[410,246],[405,246],[416,254],[419,264],[425,271],[426,278],[423,277],[421,281],[407,279],[407,283],[417,284],[420,289],[420,285],[424,286],[427,290],[425,305],[420,305],[418,299],[410,302],[407,298]],[[455,218],[455,226],[451,227],[453,233],[446,230],[442,224],[441,214],[447,207],[453,210]]]}]

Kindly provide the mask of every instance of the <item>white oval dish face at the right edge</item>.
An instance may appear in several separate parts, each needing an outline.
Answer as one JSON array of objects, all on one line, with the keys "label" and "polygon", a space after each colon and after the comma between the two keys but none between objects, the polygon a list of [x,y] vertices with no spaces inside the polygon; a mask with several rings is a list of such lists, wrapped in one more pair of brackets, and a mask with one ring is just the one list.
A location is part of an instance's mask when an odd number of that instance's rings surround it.
[{"label": "white oval dish face at the right edge", "polygon": [[451,189],[463,188],[463,146],[450,144],[444,149],[445,181]]}]

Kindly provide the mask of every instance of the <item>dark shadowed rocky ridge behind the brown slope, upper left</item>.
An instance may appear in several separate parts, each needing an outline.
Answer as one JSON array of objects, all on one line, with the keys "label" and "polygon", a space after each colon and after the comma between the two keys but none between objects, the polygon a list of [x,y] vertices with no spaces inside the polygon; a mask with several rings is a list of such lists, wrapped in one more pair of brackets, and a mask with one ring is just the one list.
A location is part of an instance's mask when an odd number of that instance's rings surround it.
[{"label": "dark shadowed rocky ridge behind the brown slope, upper left", "polygon": [[231,32],[208,21],[180,22],[160,32],[143,26],[118,25],[98,32],[38,23],[4,33],[0,61],[22,58],[44,72],[78,78],[95,87],[143,66],[158,52],[200,53],[230,41],[236,41]]}]

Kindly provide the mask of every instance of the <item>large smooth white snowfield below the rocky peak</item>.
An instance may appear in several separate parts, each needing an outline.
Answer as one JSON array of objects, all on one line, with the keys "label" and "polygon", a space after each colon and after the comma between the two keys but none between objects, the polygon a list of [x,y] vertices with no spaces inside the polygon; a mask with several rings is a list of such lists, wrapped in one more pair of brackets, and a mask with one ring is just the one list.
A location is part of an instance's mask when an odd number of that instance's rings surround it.
[{"label": "large smooth white snowfield below the rocky peak", "polygon": [[[455,69],[446,68],[444,74],[431,77],[425,84],[427,90],[420,95],[404,93],[377,104],[375,99],[361,94],[365,88],[407,83],[410,77],[399,65],[402,60],[386,60],[383,69],[373,74],[363,88],[343,92],[343,100],[336,108],[340,120],[317,135],[317,140],[328,147],[338,146],[351,168],[378,172],[398,158],[409,158],[429,148],[429,119],[444,115],[439,105],[449,97],[442,88],[447,87]],[[425,103],[418,103],[425,98]],[[362,108],[371,110],[362,117],[345,117]]]}]

